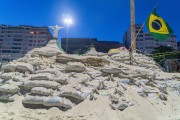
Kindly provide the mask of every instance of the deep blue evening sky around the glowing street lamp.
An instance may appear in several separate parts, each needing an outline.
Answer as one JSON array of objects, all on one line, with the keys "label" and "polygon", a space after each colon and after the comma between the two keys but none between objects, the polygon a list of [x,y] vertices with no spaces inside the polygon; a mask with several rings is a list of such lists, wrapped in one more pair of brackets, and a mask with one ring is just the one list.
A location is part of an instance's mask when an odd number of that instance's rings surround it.
[{"label": "deep blue evening sky around the glowing street lamp", "polygon": [[[158,0],[135,0],[136,23],[142,24]],[[91,37],[122,42],[130,24],[130,0],[0,0],[0,24],[63,26],[59,39],[66,37],[63,15],[70,15],[69,37]],[[159,0],[158,14],[180,39],[180,0]]]}]

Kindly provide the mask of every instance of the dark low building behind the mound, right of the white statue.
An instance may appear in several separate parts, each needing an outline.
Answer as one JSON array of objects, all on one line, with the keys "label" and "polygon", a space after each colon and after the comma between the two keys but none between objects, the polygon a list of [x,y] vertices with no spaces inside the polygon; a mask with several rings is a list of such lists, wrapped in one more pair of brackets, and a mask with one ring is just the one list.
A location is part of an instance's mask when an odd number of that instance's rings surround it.
[{"label": "dark low building behind the mound, right of the white statue", "polygon": [[[61,39],[61,47],[66,51],[67,38]],[[96,38],[68,38],[67,52],[69,54],[84,54],[91,46],[94,46],[97,52],[107,53],[112,48],[122,46],[119,42],[97,41]]]}]

